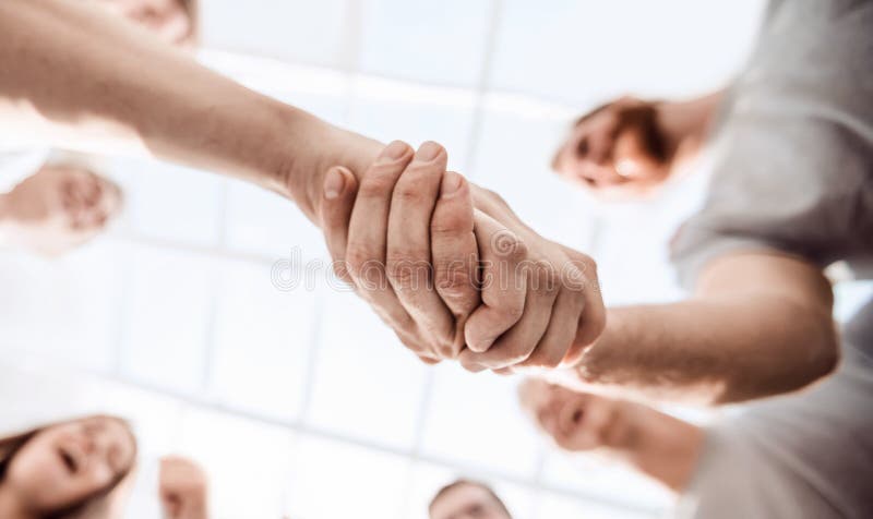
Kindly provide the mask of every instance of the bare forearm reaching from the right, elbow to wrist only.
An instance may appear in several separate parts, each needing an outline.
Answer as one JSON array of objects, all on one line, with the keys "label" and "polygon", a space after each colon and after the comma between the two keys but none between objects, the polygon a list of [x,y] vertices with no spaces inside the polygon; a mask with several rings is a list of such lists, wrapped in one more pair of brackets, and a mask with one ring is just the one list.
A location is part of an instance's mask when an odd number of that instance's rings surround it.
[{"label": "bare forearm reaching from the right, elbow to wrist only", "polygon": [[768,297],[612,309],[573,376],[659,399],[741,401],[829,372],[833,341],[826,316]]}]

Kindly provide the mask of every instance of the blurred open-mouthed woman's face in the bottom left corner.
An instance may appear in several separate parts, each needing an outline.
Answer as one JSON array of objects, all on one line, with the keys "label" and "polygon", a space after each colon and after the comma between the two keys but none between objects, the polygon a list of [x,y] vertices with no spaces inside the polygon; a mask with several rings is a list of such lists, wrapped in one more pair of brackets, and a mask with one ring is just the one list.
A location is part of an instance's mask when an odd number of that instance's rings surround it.
[{"label": "blurred open-mouthed woman's face in the bottom left corner", "polygon": [[4,485],[34,512],[77,504],[127,474],[135,444],[123,422],[89,418],[38,433],[15,456]]}]

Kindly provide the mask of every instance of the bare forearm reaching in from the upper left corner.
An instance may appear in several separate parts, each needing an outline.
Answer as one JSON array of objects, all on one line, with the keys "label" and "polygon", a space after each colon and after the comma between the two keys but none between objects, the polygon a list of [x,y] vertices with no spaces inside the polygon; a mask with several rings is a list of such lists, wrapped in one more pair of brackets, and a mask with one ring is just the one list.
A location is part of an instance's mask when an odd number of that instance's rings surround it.
[{"label": "bare forearm reaching in from the upper left corner", "polygon": [[147,153],[278,191],[311,217],[308,177],[378,153],[86,2],[0,2],[0,117],[5,142]]}]

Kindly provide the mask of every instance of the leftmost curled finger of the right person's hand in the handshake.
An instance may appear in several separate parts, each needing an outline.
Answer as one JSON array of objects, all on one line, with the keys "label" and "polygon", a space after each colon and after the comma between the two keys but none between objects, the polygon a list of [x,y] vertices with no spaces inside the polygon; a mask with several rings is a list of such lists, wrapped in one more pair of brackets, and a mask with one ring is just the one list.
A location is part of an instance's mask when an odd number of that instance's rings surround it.
[{"label": "leftmost curled finger of the right person's hand in the handshake", "polygon": [[464,336],[470,352],[480,353],[522,318],[527,273],[519,264],[527,249],[515,233],[480,210],[474,213],[474,220],[482,266],[482,304],[467,319]]}]

